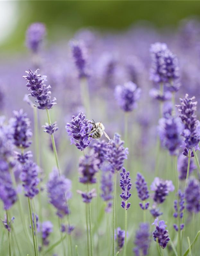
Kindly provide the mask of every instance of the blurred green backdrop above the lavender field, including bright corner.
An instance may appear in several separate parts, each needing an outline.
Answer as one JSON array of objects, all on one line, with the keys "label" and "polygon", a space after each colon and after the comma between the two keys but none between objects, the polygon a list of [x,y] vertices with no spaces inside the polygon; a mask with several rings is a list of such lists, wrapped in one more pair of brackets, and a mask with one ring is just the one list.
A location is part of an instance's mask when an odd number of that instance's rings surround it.
[{"label": "blurred green backdrop above the lavender field, including bright corner", "polygon": [[48,39],[55,41],[82,27],[124,30],[138,20],[150,21],[156,27],[174,27],[191,16],[200,16],[200,1],[0,1],[0,48],[24,49],[24,32],[36,21],[46,24]]}]

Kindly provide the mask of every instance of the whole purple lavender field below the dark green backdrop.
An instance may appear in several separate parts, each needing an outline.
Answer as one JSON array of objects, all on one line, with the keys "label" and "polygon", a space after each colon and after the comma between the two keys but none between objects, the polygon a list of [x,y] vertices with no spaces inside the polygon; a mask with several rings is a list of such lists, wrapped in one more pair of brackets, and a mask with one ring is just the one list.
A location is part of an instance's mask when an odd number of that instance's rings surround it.
[{"label": "whole purple lavender field below the dark green backdrop", "polygon": [[0,61],[0,256],[198,256],[200,22],[24,38]]}]

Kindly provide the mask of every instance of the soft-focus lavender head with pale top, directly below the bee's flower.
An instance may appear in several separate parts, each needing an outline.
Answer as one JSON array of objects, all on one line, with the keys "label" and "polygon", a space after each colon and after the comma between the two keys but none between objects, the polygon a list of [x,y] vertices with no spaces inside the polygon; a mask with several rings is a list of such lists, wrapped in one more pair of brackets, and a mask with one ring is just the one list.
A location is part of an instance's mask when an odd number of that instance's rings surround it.
[{"label": "soft-focus lavender head with pale top, directly below the bee's flower", "polygon": [[79,181],[81,183],[96,183],[95,174],[98,172],[98,164],[100,163],[100,160],[98,160],[96,156],[97,154],[94,154],[94,152],[90,152],[90,154],[87,154],[80,158],[79,173],[81,177],[79,178]]}]

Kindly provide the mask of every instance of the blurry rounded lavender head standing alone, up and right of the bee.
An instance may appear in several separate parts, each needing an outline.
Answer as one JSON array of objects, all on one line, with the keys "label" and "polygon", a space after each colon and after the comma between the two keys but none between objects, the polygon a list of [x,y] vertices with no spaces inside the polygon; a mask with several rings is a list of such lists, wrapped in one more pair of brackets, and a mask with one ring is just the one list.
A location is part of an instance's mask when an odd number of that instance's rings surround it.
[{"label": "blurry rounded lavender head standing alone, up and right of the bee", "polygon": [[130,112],[137,106],[141,89],[129,81],[122,86],[116,86],[114,94],[120,108],[125,112]]}]

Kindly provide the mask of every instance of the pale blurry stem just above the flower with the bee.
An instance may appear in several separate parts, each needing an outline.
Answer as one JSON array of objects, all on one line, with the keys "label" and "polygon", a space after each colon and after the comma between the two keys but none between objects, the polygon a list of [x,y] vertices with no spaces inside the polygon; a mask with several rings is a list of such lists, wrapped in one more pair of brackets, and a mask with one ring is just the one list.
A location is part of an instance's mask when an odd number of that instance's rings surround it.
[{"label": "pale blurry stem just above the flower with the bee", "polygon": [[90,117],[90,95],[87,78],[80,79],[80,91],[82,96],[82,103],[85,108],[86,114]]}]

